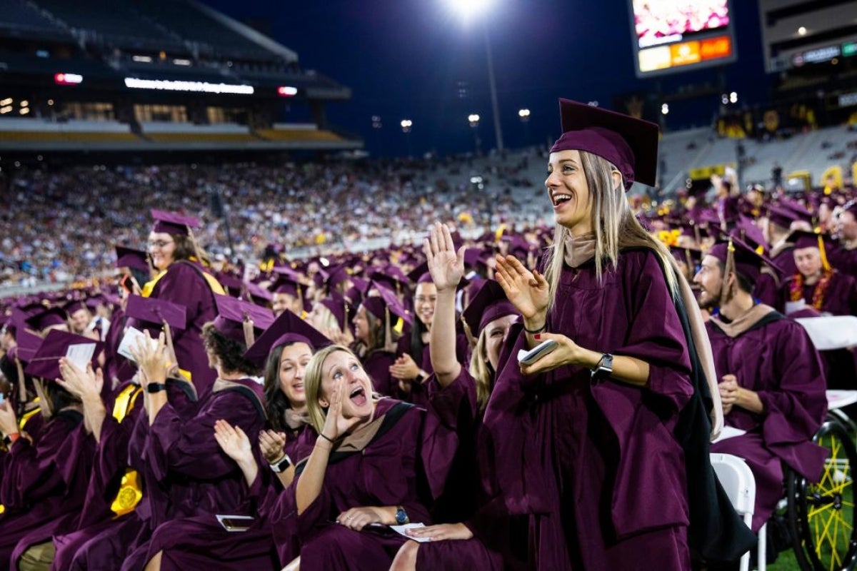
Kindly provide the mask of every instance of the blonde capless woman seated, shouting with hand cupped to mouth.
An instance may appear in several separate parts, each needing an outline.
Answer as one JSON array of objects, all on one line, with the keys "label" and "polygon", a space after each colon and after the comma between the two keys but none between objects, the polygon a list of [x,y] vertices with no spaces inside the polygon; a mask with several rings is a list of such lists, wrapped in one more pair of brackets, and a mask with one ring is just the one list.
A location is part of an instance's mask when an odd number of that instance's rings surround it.
[{"label": "blonde capless woman seated, shouting with hand cupped to mouth", "polygon": [[273,525],[293,538],[286,553],[300,556],[303,571],[388,568],[406,539],[387,526],[430,523],[421,488],[446,480],[452,435],[423,410],[373,395],[348,348],[313,355],[304,384],[318,437]]}]

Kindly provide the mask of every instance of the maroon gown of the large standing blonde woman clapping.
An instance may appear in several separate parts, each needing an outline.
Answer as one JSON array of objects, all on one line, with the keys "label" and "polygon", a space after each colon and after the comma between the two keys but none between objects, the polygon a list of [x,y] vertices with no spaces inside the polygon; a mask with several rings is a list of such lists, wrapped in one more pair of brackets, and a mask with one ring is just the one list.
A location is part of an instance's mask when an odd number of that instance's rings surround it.
[{"label": "maroon gown of the large standing blonde woman clapping", "polygon": [[[519,324],[484,416],[512,514],[530,514],[539,569],[690,568],[686,466],[674,437],[693,388],[686,337],[656,255],[620,254],[598,283],[592,260],[564,266],[548,331],[650,366],[645,388],[593,381],[578,366],[524,378]],[[512,348],[510,350],[510,345]]]}]

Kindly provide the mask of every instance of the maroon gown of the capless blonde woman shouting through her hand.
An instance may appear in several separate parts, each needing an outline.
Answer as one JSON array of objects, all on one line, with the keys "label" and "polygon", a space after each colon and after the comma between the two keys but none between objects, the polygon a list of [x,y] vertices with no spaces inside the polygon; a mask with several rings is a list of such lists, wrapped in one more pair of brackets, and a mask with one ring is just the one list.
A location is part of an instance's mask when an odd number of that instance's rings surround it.
[{"label": "maroon gown of the capless blonde woman shouting through her hand", "polygon": [[[384,418],[381,419],[381,416]],[[281,548],[285,562],[301,557],[302,571],[375,571],[389,568],[407,540],[384,528],[356,532],[334,521],[346,509],[402,506],[411,522],[431,524],[428,490],[446,481],[440,444],[430,415],[411,404],[381,399],[375,409],[381,424],[361,452],[335,450],[329,458],[319,497],[297,514],[295,482],[279,497],[272,525],[282,526],[291,544]],[[428,482],[427,482],[428,480]]]}]

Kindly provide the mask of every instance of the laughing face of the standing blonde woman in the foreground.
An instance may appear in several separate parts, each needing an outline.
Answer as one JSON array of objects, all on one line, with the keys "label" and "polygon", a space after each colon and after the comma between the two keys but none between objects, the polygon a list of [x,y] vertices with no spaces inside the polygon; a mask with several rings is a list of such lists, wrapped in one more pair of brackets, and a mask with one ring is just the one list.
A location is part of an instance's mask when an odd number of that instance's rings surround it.
[{"label": "laughing face of the standing blonde woman in the foreground", "polygon": [[591,232],[592,201],[583,163],[578,151],[550,153],[548,159],[548,198],[554,205],[556,223],[574,235]]}]

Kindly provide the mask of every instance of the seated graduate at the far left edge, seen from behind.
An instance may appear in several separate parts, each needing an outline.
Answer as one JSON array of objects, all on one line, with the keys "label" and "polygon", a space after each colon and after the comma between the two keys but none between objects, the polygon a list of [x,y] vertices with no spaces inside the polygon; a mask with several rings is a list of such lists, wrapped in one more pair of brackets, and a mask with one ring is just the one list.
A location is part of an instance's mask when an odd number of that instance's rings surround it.
[{"label": "seated graduate at the far left edge, seen from behind", "polygon": [[51,330],[29,358],[26,372],[39,392],[44,423],[38,433],[22,431],[10,401],[0,404],[0,431],[8,449],[0,457],[0,561],[5,568],[47,569],[53,559],[51,535],[77,526],[95,441],[83,421],[81,401],[54,379],[69,347],[92,344],[94,358],[99,342]]}]

